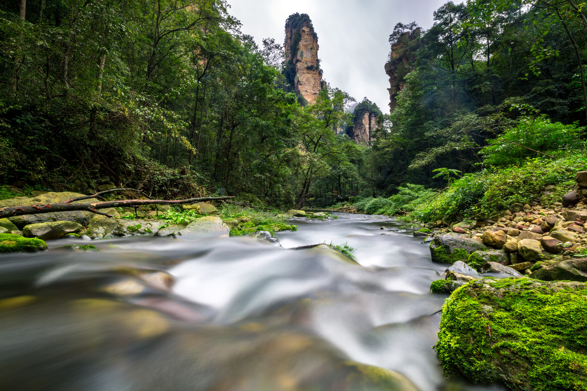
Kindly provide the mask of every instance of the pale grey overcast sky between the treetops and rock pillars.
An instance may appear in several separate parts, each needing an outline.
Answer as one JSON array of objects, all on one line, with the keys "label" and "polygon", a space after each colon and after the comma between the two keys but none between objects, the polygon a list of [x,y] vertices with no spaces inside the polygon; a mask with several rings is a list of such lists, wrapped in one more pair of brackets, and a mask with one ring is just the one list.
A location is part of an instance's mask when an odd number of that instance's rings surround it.
[{"label": "pale grey overcast sky between the treetops and rock pillars", "polygon": [[446,0],[228,0],[230,13],[242,23],[242,32],[284,41],[285,20],[307,13],[318,34],[318,57],[323,78],[357,101],[363,97],[389,113],[388,77],[383,66],[389,53],[387,39],[397,22],[433,25],[432,13]]}]

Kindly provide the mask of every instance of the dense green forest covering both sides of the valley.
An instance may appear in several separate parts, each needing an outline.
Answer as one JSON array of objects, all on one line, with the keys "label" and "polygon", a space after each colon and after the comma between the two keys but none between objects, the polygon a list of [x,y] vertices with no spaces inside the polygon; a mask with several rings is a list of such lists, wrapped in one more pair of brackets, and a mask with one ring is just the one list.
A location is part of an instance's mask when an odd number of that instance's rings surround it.
[{"label": "dense green forest covering both sides of the valley", "polygon": [[[572,0],[447,2],[428,30],[397,23],[390,114],[367,98],[346,111],[355,99],[325,80],[314,104],[296,97],[284,46],[259,47],[228,11],[2,2],[0,183],[434,220],[538,202],[585,167],[587,19]],[[345,134],[365,110],[370,147]]]}]

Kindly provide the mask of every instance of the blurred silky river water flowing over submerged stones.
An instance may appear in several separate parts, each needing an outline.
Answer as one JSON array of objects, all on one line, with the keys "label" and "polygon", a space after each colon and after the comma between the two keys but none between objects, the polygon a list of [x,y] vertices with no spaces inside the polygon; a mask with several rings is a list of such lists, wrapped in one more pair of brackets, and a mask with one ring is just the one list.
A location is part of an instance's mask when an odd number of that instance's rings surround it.
[{"label": "blurred silky river water flowing over submerged stones", "polygon": [[[129,237],[2,254],[0,389],[502,390],[443,379],[446,296],[429,287],[446,265],[427,244],[386,216],[336,215],[294,219],[282,247]],[[291,249],[323,242],[358,264]]]}]

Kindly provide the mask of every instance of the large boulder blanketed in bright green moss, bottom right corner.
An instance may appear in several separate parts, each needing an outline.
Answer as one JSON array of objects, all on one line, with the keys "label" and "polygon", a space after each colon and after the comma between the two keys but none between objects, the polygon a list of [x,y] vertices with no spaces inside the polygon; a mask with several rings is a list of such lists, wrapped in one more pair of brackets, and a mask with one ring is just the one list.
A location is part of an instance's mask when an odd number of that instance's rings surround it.
[{"label": "large boulder blanketed in bright green moss, bottom right corner", "polygon": [[444,303],[434,346],[447,377],[510,390],[587,389],[587,285],[483,278]]}]

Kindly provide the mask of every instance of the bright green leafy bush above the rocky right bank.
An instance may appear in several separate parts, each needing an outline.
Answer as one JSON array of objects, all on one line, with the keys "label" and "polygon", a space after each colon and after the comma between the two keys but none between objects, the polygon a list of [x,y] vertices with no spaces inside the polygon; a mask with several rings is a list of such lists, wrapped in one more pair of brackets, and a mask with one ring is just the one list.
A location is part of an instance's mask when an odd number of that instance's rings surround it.
[{"label": "bright green leafy bush above the rocky right bank", "polygon": [[526,157],[540,155],[535,151],[555,154],[565,149],[585,149],[585,141],[579,140],[583,130],[578,123],[552,123],[546,115],[535,119],[525,117],[517,127],[487,140],[489,145],[481,149],[481,154],[485,155],[485,164],[512,165]]}]

